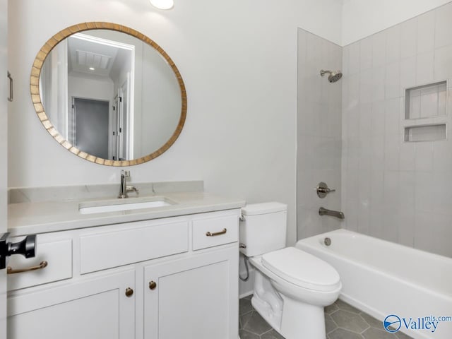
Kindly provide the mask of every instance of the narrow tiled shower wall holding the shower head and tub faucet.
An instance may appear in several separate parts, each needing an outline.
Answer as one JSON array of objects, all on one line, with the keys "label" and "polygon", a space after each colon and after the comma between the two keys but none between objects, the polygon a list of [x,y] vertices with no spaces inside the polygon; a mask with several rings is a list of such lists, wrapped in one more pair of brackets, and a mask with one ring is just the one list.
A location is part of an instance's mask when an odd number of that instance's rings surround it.
[{"label": "narrow tiled shower wall holding the shower head and tub faucet", "polygon": [[[298,30],[297,237],[340,228],[340,220],[321,217],[319,208],[340,210],[342,82],[328,82],[321,69],[342,66],[342,47],[306,30]],[[326,182],[336,192],[319,198]]]}]

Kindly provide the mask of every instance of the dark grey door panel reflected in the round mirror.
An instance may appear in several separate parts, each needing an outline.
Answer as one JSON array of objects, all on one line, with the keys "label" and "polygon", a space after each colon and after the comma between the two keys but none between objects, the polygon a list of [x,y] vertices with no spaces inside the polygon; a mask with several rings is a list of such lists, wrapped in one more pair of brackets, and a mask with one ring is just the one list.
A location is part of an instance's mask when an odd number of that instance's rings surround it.
[{"label": "dark grey door panel reflected in the round mirror", "polygon": [[73,145],[96,157],[108,158],[109,102],[73,98]]}]

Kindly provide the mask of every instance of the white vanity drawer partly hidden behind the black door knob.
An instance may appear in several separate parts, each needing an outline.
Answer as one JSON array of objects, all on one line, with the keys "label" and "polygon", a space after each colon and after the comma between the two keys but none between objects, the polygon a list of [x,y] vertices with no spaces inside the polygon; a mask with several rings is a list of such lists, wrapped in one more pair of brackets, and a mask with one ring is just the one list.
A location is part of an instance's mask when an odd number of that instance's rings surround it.
[{"label": "white vanity drawer partly hidden behind the black door knob", "polygon": [[[17,242],[22,237],[11,239]],[[8,291],[19,290],[58,280],[72,278],[72,239],[55,239],[54,234],[37,234],[36,256],[11,256],[8,266],[13,270],[39,266],[47,261],[47,266],[37,270],[8,274]]]}]

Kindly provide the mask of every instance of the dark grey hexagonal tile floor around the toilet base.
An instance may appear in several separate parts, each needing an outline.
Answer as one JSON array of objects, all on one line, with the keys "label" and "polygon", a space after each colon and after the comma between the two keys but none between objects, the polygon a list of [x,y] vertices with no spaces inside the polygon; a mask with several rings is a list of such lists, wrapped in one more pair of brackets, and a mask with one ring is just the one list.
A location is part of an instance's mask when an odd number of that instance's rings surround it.
[{"label": "dark grey hexagonal tile floor around the toilet base", "polygon": [[[381,321],[338,300],[325,308],[327,339],[412,339],[401,332],[384,331]],[[254,310],[251,295],[240,299],[240,339],[284,339]]]}]

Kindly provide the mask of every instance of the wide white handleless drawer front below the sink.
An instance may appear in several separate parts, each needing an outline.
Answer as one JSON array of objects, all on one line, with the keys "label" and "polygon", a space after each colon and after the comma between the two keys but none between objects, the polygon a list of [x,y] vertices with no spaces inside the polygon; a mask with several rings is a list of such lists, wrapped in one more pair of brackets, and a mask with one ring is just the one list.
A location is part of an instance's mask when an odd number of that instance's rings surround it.
[{"label": "wide white handleless drawer front below the sink", "polygon": [[189,250],[189,223],[133,222],[80,239],[80,273],[137,263]]}]

